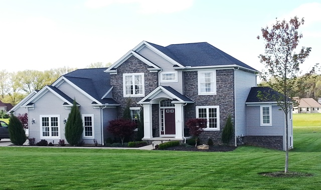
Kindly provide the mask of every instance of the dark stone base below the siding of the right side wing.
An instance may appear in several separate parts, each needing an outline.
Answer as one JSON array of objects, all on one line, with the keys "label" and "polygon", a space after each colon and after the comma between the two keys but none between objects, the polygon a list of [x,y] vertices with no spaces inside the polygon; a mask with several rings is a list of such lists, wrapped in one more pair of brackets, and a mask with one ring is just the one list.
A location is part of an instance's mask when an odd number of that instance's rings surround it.
[{"label": "dark stone base below the siding of the right side wing", "polygon": [[245,136],[244,144],[283,150],[283,136]]}]

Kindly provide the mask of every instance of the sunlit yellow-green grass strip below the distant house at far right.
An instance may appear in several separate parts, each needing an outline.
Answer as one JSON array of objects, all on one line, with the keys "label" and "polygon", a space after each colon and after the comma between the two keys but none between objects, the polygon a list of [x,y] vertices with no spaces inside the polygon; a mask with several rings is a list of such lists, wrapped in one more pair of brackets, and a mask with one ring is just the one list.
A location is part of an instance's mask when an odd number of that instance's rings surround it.
[{"label": "sunlit yellow-green grass strip below the distant house at far right", "polygon": [[293,114],[293,126],[321,126],[321,113]]}]

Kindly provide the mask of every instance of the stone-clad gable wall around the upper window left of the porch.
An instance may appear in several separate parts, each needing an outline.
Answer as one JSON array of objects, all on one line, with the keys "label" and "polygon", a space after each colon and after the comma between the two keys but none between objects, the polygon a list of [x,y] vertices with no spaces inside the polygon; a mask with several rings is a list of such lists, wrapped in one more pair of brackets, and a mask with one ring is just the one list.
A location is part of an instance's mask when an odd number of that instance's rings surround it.
[{"label": "stone-clad gable wall around the upper window left of the porch", "polygon": [[[112,97],[120,104],[117,106],[117,118],[122,117],[124,108],[129,97],[123,96],[123,77],[124,73],[144,73],[145,96],[148,95],[158,86],[158,73],[150,73],[148,65],[134,56],[128,58],[124,63],[117,67],[117,75],[110,75],[110,84],[113,85]],[[131,107],[140,107],[136,104],[143,97],[130,97],[132,100]]]}]

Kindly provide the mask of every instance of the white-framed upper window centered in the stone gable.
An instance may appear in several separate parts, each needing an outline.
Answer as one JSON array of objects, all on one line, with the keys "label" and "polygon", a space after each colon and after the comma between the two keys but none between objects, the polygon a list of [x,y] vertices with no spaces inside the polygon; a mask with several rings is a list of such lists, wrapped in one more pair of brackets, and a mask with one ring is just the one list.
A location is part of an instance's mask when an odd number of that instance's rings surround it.
[{"label": "white-framed upper window centered in the stone gable", "polygon": [[126,73],[122,76],[124,97],[143,97],[145,95],[144,73]]}]

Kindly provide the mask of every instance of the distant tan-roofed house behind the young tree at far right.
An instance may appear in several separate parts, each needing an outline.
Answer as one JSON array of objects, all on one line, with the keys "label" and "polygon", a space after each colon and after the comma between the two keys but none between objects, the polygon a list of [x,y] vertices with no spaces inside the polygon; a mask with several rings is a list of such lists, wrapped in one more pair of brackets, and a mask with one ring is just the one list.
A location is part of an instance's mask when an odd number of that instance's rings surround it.
[{"label": "distant tan-roofed house behind the young tree at far right", "polygon": [[321,113],[321,104],[313,98],[296,99],[296,101],[299,101],[299,105],[292,108],[293,113]]}]

